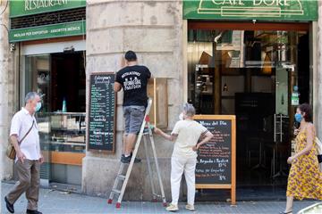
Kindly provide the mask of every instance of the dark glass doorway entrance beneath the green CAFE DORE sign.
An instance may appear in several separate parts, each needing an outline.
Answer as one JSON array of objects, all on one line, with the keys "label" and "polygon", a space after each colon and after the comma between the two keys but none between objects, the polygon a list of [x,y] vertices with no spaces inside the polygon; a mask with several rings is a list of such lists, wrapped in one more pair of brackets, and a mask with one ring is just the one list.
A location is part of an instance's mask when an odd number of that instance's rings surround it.
[{"label": "dark glass doorway entrance beneath the green CAFE DORE sign", "polygon": [[188,98],[236,115],[237,187],[285,187],[293,114],[309,103],[309,24],[188,24]]}]

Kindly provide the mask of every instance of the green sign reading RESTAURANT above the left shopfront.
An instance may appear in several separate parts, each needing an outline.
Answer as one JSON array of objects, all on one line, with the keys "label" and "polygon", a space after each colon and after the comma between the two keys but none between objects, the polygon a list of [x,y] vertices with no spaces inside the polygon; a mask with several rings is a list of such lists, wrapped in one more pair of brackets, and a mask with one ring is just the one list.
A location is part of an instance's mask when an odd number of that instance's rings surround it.
[{"label": "green sign reading RESTAURANT above the left shopfront", "polygon": [[10,17],[85,7],[86,0],[11,0]]}]

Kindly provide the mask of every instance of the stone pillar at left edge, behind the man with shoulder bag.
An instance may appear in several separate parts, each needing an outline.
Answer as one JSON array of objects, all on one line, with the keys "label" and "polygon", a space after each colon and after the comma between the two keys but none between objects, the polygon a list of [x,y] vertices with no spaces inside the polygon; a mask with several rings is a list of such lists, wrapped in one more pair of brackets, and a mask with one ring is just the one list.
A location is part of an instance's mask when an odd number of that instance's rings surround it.
[{"label": "stone pillar at left edge, behind the man with shoulder bag", "polygon": [[0,178],[10,179],[13,176],[13,161],[5,155],[8,144],[9,128],[16,108],[16,77],[14,69],[14,50],[11,50],[8,38],[9,6],[7,1],[0,1]]}]

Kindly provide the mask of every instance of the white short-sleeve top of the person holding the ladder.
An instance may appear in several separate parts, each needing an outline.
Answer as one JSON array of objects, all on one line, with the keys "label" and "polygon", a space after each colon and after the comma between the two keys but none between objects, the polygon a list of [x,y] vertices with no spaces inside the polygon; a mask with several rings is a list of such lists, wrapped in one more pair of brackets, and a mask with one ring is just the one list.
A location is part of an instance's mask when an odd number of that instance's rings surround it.
[{"label": "white short-sleeve top of the person holding the ladder", "polygon": [[198,143],[199,137],[207,132],[207,128],[194,120],[178,121],[172,132],[172,135],[177,135],[173,157],[197,157],[197,152],[194,152],[192,147]]}]

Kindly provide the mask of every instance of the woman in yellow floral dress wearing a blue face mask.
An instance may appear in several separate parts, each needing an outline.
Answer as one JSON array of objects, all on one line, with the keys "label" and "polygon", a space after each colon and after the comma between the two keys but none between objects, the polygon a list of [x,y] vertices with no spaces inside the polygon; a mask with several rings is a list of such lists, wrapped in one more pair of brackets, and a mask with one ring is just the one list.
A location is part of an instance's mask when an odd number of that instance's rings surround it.
[{"label": "woman in yellow floral dress wearing a blue face mask", "polygon": [[297,135],[295,154],[287,162],[292,164],[286,191],[286,208],[281,213],[292,213],[293,199],[322,200],[322,172],[318,169],[316,131],[312,124],[309,104],[301,104],[295,120],[301,123],[294,131]]}]

